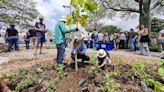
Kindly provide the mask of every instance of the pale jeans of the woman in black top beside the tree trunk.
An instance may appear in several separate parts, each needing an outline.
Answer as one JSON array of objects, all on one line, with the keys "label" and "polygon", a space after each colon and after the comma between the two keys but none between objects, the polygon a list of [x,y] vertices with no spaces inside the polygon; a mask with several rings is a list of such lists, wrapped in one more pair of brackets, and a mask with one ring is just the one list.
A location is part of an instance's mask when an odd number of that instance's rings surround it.
[{"label": "pale jeans of the woman in black top beside the tree trunk", "polygon": [[140,50],[141,50],[141,54],[143,54],[144,56],[149,56],[150,50],[149,50],[148,42],[140,42]]}]

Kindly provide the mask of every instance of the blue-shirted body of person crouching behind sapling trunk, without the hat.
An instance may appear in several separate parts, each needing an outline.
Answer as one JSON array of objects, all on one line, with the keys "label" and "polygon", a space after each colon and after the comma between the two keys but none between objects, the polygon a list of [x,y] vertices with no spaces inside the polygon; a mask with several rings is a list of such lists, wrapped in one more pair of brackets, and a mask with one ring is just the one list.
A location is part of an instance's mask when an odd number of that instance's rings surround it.
[{"label": "blue-shirted body of person crouching behind sapling trunk, without the hat", "polygon": [[[87,46],[83,39],[84,38],[80,39],[79,41],[78,39],[75,39],[74,44],[76,44],[76,46],[74,46],[72,49],[71,58],[75,61],[75,51],[77,51],[77,59],[82,59],[82,62],[84,63],[84,61],[90,61],[90,58],[86,55]],[[77,45],[79,45],[79,48],[76,49],[76,47],[78,47]]]}]

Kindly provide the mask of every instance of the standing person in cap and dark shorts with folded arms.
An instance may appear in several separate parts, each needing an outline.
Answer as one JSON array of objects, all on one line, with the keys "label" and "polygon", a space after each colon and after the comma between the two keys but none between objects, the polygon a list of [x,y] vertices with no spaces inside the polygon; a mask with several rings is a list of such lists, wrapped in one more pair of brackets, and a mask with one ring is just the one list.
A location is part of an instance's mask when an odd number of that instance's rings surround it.
[{"label": "standing person in cap and dark shorts with folded arms", "polygon": [[44,17],[40,16],[39,17],[39,22],[36,22],[35,24],[35,30],[36,30],[36,38],[37,38],[37,44],[36,44],[36,52],[34,53],[34,56],[37,56],[37,50],[40,47],[40,52],[39,54],[43,54],[42,48],[43,48],[43,43],[45,42],[45,33],[47,32],[46,30],[46,25],[43,23]]}]

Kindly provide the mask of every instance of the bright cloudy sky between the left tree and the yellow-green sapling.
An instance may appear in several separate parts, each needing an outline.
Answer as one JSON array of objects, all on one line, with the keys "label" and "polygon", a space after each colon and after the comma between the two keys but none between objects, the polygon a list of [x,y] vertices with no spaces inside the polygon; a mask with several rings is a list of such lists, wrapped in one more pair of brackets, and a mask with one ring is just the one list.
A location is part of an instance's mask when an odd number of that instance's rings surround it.
[{"label": "bright cloudy sky between the left tree and the yellow-green sapling", "polygon": [[[65,16],[69,13],[69,9],[63,8],[63,5],[69,5],[69,0],[36,0],[36,9],[40,15],[44,16],[45,24],[50,30],[54,29],[56,21],[60,16]],[[36,22],[36,20],[35,20]]]}]

